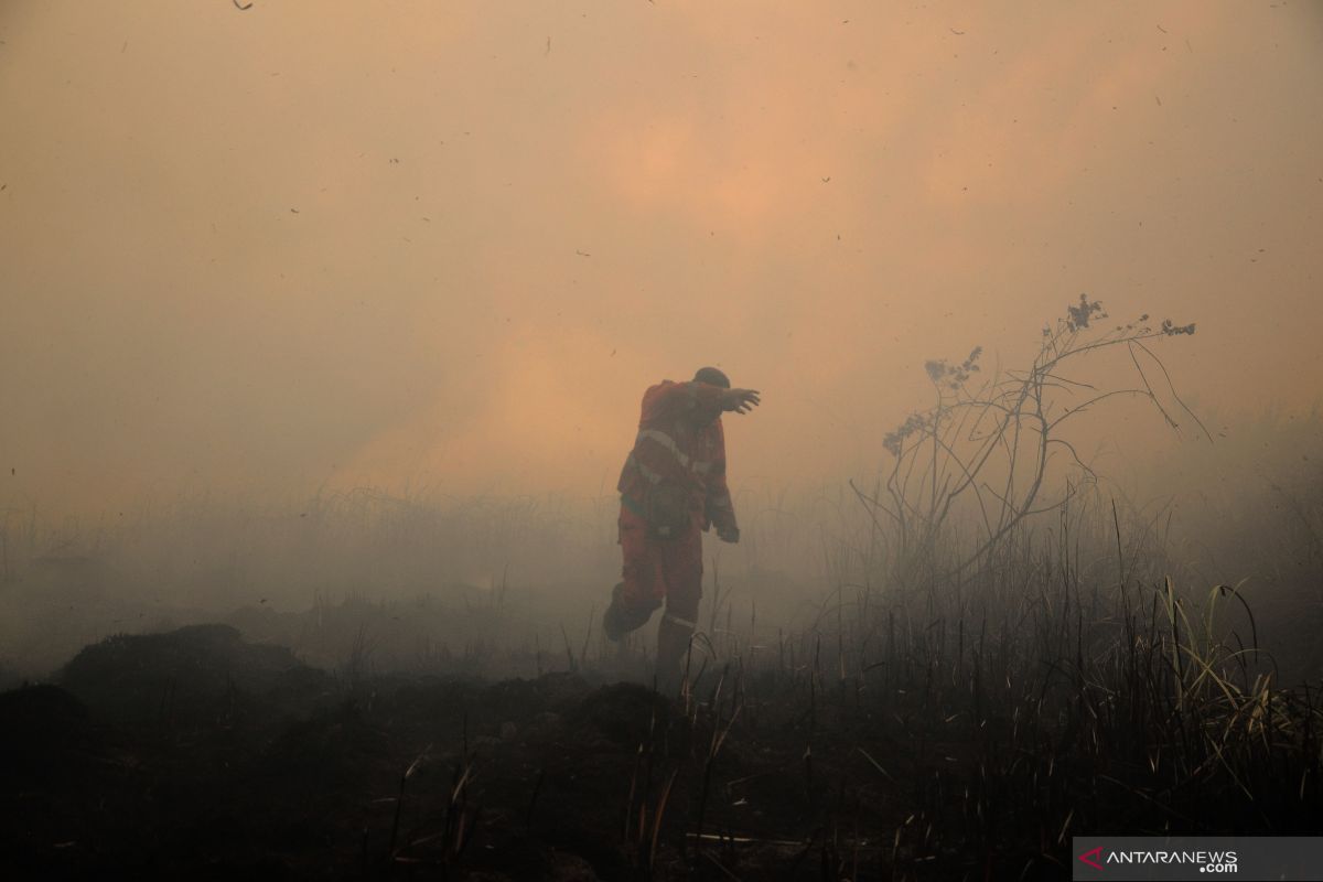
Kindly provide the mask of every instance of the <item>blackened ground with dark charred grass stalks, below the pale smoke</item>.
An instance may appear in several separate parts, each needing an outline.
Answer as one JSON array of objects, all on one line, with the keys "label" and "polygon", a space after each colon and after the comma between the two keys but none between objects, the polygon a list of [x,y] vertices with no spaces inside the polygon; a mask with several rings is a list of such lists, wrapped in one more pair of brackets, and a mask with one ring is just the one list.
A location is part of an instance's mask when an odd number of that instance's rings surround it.
[{"label": "blackened ground with dark charred grass stalks, below the pale smoke", "polygon": [[[501,648],[483,633],[517,607],[459,599],[232,616],[337,653],[332,669],[226,624],[106,637],[0,696],[4,862],[11,878],[1064,878],[1072,834],[1316,832],[1318,656],[1302,647],[1289,673],[1265,645],[1316,628],[1316,607],[1256,619],[1230,586],[1118,582],[1115,561],[1090,577],[1061,538],[941,592],[843,586],[798,632],[717,591],[664,696],[651,629],[618,648],[589,620],[561,645]],[[384,635],[414,645],[406,631],[446,621],[472,639],[374,661]]]}]

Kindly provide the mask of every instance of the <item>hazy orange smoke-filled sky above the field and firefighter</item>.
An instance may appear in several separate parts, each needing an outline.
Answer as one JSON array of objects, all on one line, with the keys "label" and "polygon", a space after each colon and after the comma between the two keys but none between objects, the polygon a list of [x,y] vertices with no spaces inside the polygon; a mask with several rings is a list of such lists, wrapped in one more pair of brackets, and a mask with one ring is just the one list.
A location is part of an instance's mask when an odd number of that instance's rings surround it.
[{"label": "hazy orange smoke-filled sky above the field and firefighter", "polygon": [[0,502],[610,492],[708,364],[837,480],[1081,292],[1308,407],[1320,83],[1310,3],[11,1]]}]

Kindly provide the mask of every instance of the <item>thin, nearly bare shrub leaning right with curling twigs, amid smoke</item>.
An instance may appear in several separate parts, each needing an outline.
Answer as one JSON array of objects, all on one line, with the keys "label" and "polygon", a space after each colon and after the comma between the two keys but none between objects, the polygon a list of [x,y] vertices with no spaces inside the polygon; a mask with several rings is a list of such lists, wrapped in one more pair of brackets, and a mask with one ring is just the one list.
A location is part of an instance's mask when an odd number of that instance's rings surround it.
[{"label": "thin, nearly bare shrub leaning right with curling twigs, amid smoke", "polygon": [[[1162,328],[1154,328],[1143,315],[1106,328],[1102,320],[1107,313],[1101,301],[1084,295],[1066,312],[1066,317],[1044,327],[1039,352],[1024,370],[1002,370],[999,365],[990,377],[971,385],[974,374],[980,372],[976,362],[982,348],[963,361],[941,358],[925,364],[933,386],[931,406],[910,414],[884,440],[894,461],[885,481],[878,480],[875,496],[885,487],[892,505],[882,505],[880,499],[851,484],[875,529],[881,532],[877,514],[881,509],[900,533],[900,554],[890,563],[897,578],[958,574],[1025,518],[1073,499],[1081,485],[1068,487],[1050,505],[1039,501],[1048,495],[1049,476],[1062,467],[1078,468],[1086,483],[1097,481],[1097,473],[1074,444],[1060,436],[1077,414],[1113,398],[1146,398],[1179,431],[1172,410],[1155,393],[1148,376],[1151,366],[1143,364],[1140,354],[1158,364],[1170,391],[1167,401],[1174,399],[1211,439],[1207,427],[1176,393],[1166,365],[1147,345],[1156,337],[1193,333],[1193,325],[1164,321]],[[1065,369],[1066,362],[1073,366],[1089,353],[1122,345],[1139,376],[1139,386],[1109,389],[1068,376],[1072,372]],[[1057,447],[1065,448],[1068,464],[1061,464]],[[970,502],[968,509],[963,508],[964,501]],[[954,570],[942,574],[934,557],[937,543],[950,540],[959,545],[953,516],[972,512],[974,506],[982,518],[982,530],[975,530],[976,547],[972,554],[962,555]]]}]

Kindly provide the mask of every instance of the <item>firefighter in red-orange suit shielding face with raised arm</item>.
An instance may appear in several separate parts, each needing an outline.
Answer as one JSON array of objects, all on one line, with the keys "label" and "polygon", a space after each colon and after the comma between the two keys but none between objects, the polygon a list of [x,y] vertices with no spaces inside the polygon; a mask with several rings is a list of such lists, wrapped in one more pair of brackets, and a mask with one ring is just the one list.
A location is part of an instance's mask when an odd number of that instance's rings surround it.
[{"label": "firefighter in red-orange suit shielding face with raised arm", "polygon": [[611,640],[643,627],[665,604],[658,625],[658,681],[680,673],[703,596],[703,532],[740,541],[726,487],[722,411],[746,414],[759,403],[753,389],[732,389],[716,368],[689,382],[664,380],[643,395],[634,450],[620,481],[622,582],[602,627]]}]

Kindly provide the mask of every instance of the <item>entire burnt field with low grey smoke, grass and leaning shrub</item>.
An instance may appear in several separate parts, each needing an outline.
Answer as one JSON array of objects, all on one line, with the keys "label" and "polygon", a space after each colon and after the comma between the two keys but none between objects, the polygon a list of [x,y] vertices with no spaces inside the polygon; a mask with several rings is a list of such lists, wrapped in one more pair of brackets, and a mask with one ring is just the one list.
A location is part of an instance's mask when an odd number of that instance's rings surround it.
[{"label": "entire burnt field with low grey smoke, grass and leaning shrub", "polygon": [[[601,632],[610,500],[355,491],[81,533],[7,514],[0,860],[1027,879],[1065,878],[1072,836],[1316,832],[1319,417],[1211,443],[1142,361],[1193,325],[1069,316],[1025,372],[929,362],[935,405],[886,435],[871,485],[742,496],[663,693],[655,625]],[[1065,380],[1109,349],[1131,385]],[[1064,431],[1121,395],[1201,435],[1139,491]]]}]

